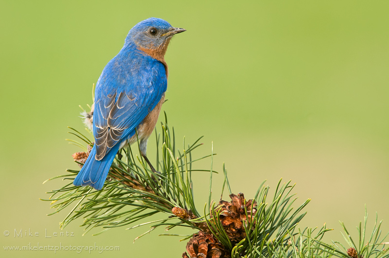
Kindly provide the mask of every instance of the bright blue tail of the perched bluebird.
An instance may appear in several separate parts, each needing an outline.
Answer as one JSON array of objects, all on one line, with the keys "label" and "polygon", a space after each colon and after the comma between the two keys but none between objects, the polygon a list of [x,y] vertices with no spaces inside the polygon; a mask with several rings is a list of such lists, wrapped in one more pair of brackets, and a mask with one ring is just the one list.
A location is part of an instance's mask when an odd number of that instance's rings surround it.
[{"label": "bright blue tail of the perched bluebird", "polygon": [[96,190],[102,189],[118,150],[119,144],[116,144],[102,160],[96,160],[96,146],[93,146],[87,161],[74,179],[73,185],[91,186]]}]

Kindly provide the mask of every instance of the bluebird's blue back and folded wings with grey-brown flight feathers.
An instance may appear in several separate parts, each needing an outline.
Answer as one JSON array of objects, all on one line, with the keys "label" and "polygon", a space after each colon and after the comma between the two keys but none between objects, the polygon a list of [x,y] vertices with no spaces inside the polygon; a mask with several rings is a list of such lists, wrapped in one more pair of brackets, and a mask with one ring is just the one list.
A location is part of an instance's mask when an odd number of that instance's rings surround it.
[{"label": "bluebird's blue back and folded wings with grey-brown flight feathers", "polygon": [[110,63],[96,86],[93,113],[96,160],[103,159],[113,146],[129,137],[157,105],[167,86],[165,68],[157,61],[143,62],[142,69],[130,76],[118,74]]}]

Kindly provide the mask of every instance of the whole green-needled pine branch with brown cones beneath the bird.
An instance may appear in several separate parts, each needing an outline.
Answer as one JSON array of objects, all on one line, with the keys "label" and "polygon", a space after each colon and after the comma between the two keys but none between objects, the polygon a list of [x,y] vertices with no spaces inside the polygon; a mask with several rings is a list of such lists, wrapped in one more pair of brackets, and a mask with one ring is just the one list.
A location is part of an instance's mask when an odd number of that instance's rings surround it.
[{"label": "whole green-needled pine branch with brown cones beneath the bird", "polygon": [[[89,107],[90,108],[90,107]],[[92,113],[83,112],[90,117]],[[70,134],[78,140],[70,139],[70,143],[80,147],[83,152],[73,155],[74,161],[82,167],[88,158],[92,134],[87,134],[69,127]],[[198,233],[191,235],[161,234],[164,236],[179,236],[188,240],[183,258],[389,258],[385,248],[388,234],[381,237],[381,222],[376,216],[370,237],[367,235],[366,223],[368,213],[365,209],[365,220],[357,227],[358,242],[350,236],[345,225],[344,240],[350,246],[346,248],[339,241],[326,243],[322,241],[328,229],[324,224],[320,229],[305,228],[301,230],[298,224],[306,212],[303,212],[310,199],[302,202],[297,209],[292,206],[297,202],[291,191],[294,185],[291,181],[279,181],[274,195],[269,199],[270,188],[263,182],[255,196],[246,200],[243,193],[235,195],[231,191],[228,173],[223,164],[224,182],[222,194],[227,188],[230,201],[224,201],[223,195],[218,204],[212,203],[213,146],[210,155],[196,158],[195,151],[202,144],[198,138],[191,145],[183,140],[183,149],[176,144],[174,128],[172,134],[167,122],[161,123],[160,133],[155,131],[157,143],[156,168],[159,173],[152,172],[141,156],[134,153],[139,149],[133,145],[123,148],[115,157],[103,189],[95,190],[89,187],[76,187],[72,184],[77,170],[67,170],[65,175],[54,176],[47,181],[62,178],[66,184],[50,192],[50,198],[55,211],[49,215],[70,208],[70,212],[60,224],[66,227],[72,221],[83,218],[82,226],[85,233],[93,228],[101,228],[101,234],[116,227],[133,229],[149,226],[147,233],[163,226],[166,230],[180,226],[195,229]],[[81,142],[80,142],[81,141]],[[212,144],[213,145],[213,144]],[[199,161],[210,158],[210,169],[195,169]],[[197,208],[194,201],[193,172],[209,172],[210,192],[208,203],[204,208]],[[201,212],[200,212],[201,210]],[[164,218],[153,220],[153,215],[162,213]],[[138,239],[136,238],[136,239]]]}]

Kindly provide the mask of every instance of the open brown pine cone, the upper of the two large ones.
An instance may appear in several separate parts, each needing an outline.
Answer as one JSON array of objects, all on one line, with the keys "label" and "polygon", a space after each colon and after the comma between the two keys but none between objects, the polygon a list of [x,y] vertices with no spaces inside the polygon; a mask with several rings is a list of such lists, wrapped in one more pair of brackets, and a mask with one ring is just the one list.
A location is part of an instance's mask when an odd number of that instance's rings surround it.
[{"label": "open brown pine cone, the upper of the two large ones", "polygon": [[[248,200],[246,202],[247,215],[245,212],[245,195],[243,193],[230,194],[231,202],[220,201],[219,206],[222,210],[219,219],[227,232],[231,241],[241,241],[246,237],[243,223],[250,223],[252,216],[255,215],[257,209],[257,202],[255,200]],[[251,206],[253,208],[251,209]],[[248,217],[248,218],[247,218]]]}]

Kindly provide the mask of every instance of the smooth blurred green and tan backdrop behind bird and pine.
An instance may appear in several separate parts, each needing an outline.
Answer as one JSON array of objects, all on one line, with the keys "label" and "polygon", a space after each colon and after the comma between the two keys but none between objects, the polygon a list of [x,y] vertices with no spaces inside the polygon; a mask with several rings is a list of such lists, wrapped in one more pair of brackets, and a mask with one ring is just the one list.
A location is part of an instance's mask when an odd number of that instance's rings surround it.
[{"label": "smooth blurred green and tan backdrop behind bird and pine", "polygon": [[[297,204],[312,198],[301,226],[355,234],[364,205],[389,231],[389,2],[355,1],[0,1],[0,239],[6,245],[120,246],[96,257],[181,257],[185,242],[148,230],[118,228],[82,237],[81,220],[61,232],[67,212],[52,212],[42,185],[75,169],[67,126],[82,129],[79,104],[121,49],[128,31],[148,17],[187,29],[166,54],[162,107],[177,138],[205,135],[198,156],[223,162],[232,191],[250,199],[260,183],[296,182]],[[150,143],[148,154],[155,150]],[[208,169],[209,161],[199,164]],[[195,177],[199,207],[208,174]],[[214,176],[214,199],[222,175]],[[228,196],[225,195],[226,200]],[[296,206],[297,206],[296,204]],[[201,208],[200,208],[201,209]],[[30,229],[38,237],[15,238]],[[10,231],[5,237],[3,231]],[[97,232],[97,231],[96,231]],[[175,231],[184,233],[182,231]],[[172,232],[172,233],[175,233]],[[185,233],[191,233],[186,231]],[[55,257],[90,257],[62,251]],[[1,257],[53,257],[52,251],[4,251]]]}]

